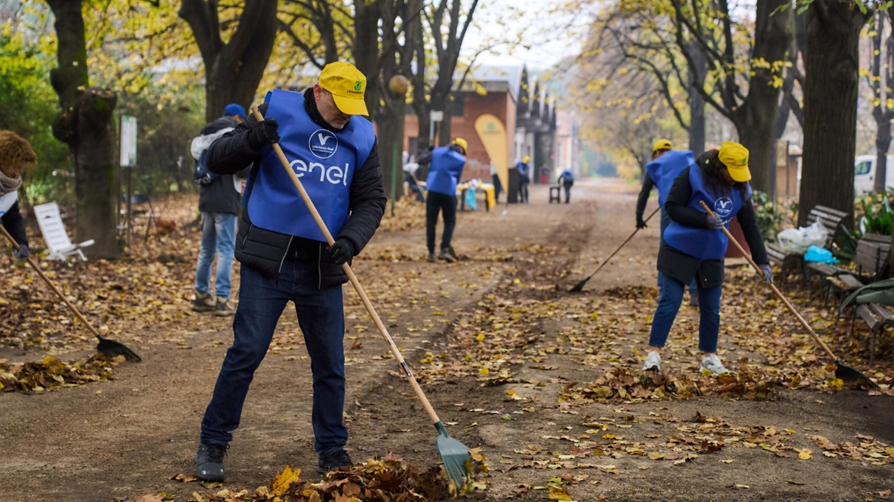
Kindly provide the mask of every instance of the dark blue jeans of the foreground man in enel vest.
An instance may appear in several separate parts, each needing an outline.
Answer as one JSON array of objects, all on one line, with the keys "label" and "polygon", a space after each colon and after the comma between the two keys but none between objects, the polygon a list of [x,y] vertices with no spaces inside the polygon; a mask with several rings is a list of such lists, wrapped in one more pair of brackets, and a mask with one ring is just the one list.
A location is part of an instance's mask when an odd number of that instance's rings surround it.
[{"label": "dark blue jeans of the foreground man in enel vest", "polygon": [[348,442],[348,429],[342,422],[342,287],[317,289],[316,262],[283,262],[277,279],[242,267],[240,280],[239,306],[232,322],[233,343],[223,358],[214,396],[202,419],[202,442],[226,445],[232,440],[232,431],[239,427],[249,384],[270,347],[276,322],[291,300],[295,303],[299,327],[304,333],[313,374],[311,423],[316,437],[314,448],[320,456],[344,448]]}]

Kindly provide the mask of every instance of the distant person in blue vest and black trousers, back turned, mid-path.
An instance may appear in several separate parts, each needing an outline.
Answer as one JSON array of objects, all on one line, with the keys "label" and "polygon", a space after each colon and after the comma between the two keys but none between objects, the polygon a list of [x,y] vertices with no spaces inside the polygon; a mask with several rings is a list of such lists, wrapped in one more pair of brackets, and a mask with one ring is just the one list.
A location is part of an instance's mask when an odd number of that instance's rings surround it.
[{"label": "distant person in blue vest and black trousers, back turned, mid-path", "polygon": [[[429,262],[434,262],[437,258],[452,264],[457,260],[450,241],[456,227],[456,185],[460,182],[462,168],[466,165],[467,148],[468,142],[465,139],[454,138],[448,146],[440,146],[418,155],[419,163],[431,163],[426,179],[426,244]],[[439,212],[444,215],[444,231],[441,234],[441,253],[435,257],[434,233]]]}]

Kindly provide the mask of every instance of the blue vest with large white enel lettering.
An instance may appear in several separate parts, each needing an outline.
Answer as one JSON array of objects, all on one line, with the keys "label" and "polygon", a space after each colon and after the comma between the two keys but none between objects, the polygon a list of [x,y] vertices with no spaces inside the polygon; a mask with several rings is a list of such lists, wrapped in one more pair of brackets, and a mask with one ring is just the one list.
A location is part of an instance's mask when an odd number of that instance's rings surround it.
[{"label": "blue vest with large white enel lettering", "polygon": [[[325,130],[304,109],[304,96],[275,89],[266,96],[268,119],[276,119],[279,145],[308,191],[326,227],[337,237],[348,222],[350,181],[375,145],[373,124],[351,117],[340,132]],[[265,230],[325,242],[298,189],[272,146],[264,146],[247,209]]]}]

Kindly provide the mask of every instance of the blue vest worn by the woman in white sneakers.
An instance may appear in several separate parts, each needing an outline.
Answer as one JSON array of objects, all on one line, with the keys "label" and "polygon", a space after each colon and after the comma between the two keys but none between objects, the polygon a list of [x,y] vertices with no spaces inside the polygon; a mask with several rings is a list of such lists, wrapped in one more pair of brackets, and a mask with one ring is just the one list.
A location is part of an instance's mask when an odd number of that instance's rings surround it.
[{"label": "blue vest worn by the woman in white sneakers", "polygon": [[[730,196],[717,197],[713,190],[704,186],[702,170],[694,163],[689,167],[689,184],[692,185],[692,197],[689,197],[689,207],[704,211],[699,201],[703,201],[711,208],[714,214],[723,219],[727,225],[730,220],[742,209],[745,203],[738,189],[730,187]],[[747,196],[751,197],[751,186],[748,185]],[[700,260],[721,260],[726,254],[729,239],[721,230],[696,229],[687,227],[678,222],[671,222],[667,230],[664,230],[664,242],[669,246],[696,256]]]}]

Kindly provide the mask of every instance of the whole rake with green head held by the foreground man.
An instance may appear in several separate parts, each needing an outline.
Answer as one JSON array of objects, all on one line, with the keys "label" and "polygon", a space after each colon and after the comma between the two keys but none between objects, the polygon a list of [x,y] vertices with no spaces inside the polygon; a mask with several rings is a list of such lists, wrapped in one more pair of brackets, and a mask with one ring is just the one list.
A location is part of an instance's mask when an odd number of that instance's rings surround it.
[{"label": "whole rake with green head held by the foreground man", "polygon": [[[252,107],[251,113],[254,114],[257,121],[264,120],[264,116],[257,110],[257,106]],[[301,199],[303,199],[304,204],[308,206],[308,211],[310,211],[310,214],[314,217],[316,225],[320,228],[320,231],[323,232],[326,242],[332,246],[335,240],[329,232],[329,229],[326,228],[326,224],[323,222],[323,218],[320,217],[320,213],[316,211],[316,206],[314,205],[314,202],[310,200],[308,192],[301,185],[301,181],[295,175],[295,172],[291,170],[289,160],[283,153],[283,148],[280,147],[278,143],[274,143],[272,146],[276,156],[279,157],[280,163],[283,164],[283,169],[289,173],[291,182],[295,185],[295,188],[298,188],[299,194],[301,194]],[[379,314],[375,313],[375,308],[373,308],[373,304],[370,303],[366,291],[360,286],[360,282],[357,280],[357,276],[354,275],[354,272],[350,270],[350,265],[342,264],[342,270],[348,274],[348,279],[350,280],[351,285],[354,286],[354,289],[363,301],[363,305],[367,307],[367,312],[369,313],[369,316],[373,318],[375,327],[378,328],[379,332],[382,333],[382,337],[388,342],[388,347],[391,348],[394,359],[397,360],[398,364],[401,364],[401,370],[407,375],[409,385],[413,388],[413,391],[416,392],[416,396],[422,402],[422,406],[426,408],[426,413],[432,419],[434,428],[438,431],[435,448],[437,448],[438,454],[441,456],[448,478],[453,481],[457,489],[462,488],[468,481],[472,481],[475,478],[475,473],[472,471],[471,455],[468,452],[468,447],[460,443],[460,441],[451,438],[450,434],[447,433],[447,429],[444,428],[444,424],[441,422],[441,419],[438,418],[438,414],[434,412],[434,408],[431,403],[428,402],[422,388],[419,387],[416,377],[414,377],[413,372],[410,371],[409,365],[403,360],[401,351],[394,345],[394,340],[392,340],[391,335],[388,334],[388,330],[385,328],[382,319],[379,318]]]}]

